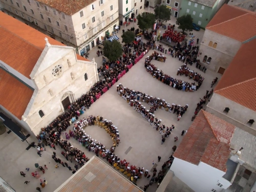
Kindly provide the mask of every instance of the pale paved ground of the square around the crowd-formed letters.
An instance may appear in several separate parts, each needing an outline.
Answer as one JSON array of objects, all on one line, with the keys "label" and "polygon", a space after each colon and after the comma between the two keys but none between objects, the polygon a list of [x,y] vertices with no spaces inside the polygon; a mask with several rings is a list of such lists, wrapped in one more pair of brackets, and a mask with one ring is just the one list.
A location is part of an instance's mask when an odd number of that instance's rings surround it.
[{"label": "pale paved ground of the square around the crowd-formed letters", "polygon": [[[170,23],[173,24],[172,20]],[[123,28],[123,27],[122,27]],[[122,30],[121,28],[121,30]],[[203,36],[203,31],[194,32],[197,36]],[[120,37],[121,31],[118,33]],[[200,39],[201,40],[201,39]],[[90,51],[89,59],[95,57],[98,66],[101,65],[101,57],[96,57],[96,51],[94,48]],[[151,54],[151,50],[148,54]],[[147,55],[148,55],[147,54]],[[178,68],[183,64],[177,58],[172,58],[166,55],[166,62],[152,61],[164,73],[170,76],[177,77],[176,73]],[[144,57],[145,58],[145,57]],[[144,58],[142,58],[127,74],[125,74],[108,92],[106,92],[99,100],[97,100],[91,106],[90,110],[87,110],[82,117],[89,115],[102,116],[104,119],[112,120],[113,124],[118,127],[121,143],[116,148],[115,154],[121,159],[126,159],[130,162],[130,165],[136,165],[151,170],[153,167],[153,161],[157,164],[157,170],[161,169],[162,164],[172,155],[173,145],[179,145],[182,140],[182,130],[187,130],[191,124],[191,117],[193,116],[196,104],[199,102],[199,98],[203,97],[206,90],[210,90],[210,83],[215,77],[220,78],[219,74],[207,70],[206,73],[202,73],[194,66],[188,66],[191,70],[198,71],[205,78],[201,88],[194,92],[182,92],[175,90],[166,84],[156,80],[150,74],[148,74],[144,68]],[[179,79],[184,81],[193,82],[185,76],[179,76]],[[136,113],[129,104],[123,100],[116,92],[116,85],[122,83],[124,87],[141,91],[143,93],[152,95],[153,97],[159,97],[165,99],[168,103],[176,103],[180,105],[188,104],[189,108],[183,115],[180,121],[177,121],[177,116],[168,112],[157,110],[155,117],[162,119],[162,124],[170,126],[175,125],[175,130],[172,135],[168,137],[164,144],[161,145],[161,135],[153,127],[142,118],[142,116]],[[145,105],[149,108],[148,105]],[[106,132],[97,126],[90,126],[86,128],[86,133],[90,134],[94,139],[101,141],[107,147],[112,145],[112,140]],[[174,137],[178,136],[178,141],[174,142]],[[63,138],[65,133],[63,133]],[[34,138],[29,138],[28,142],[35,141]],[[86,148],[82,147],[73,138],[70,142],[84,151],[86,156],[91,158],[94,154],[88,152]],[[31,176],[31,172],[36,170],[34,163],[39,165],[48,165],[48,170],[42,175],[41,178],[45,178],[48,181],[47,186],[42,191],[54,191],[60,184],[66,181],[72,173],[66,167],[60,166],[58,169],[54,168],[54,160],[51,158],[54,151],[49,146],[46,152],[42,152],[42,157],[39,157],[35,148],[31,148],[29,151],[25,150],[28,144],[22,142],[16,138],[13,133],[0,136],[0,173],[16,191],[34,191],[39,185],[39,179],[35,179]],[[130,149],[130,151],[128,150]],[[60,147],[57,146],[55,151],[57,156],[66,162],[60,154]],[[125,153],[126,152],[126,153]],[[157,161],[157,157],[161,156],[160,162]],[[70,163],[71,167],[74,167],[74,162]],[[29,172],[25,168],[30,167]],[[26,178],[19,175],[19,172],[23,171],[27,173]],[[150,173],[153,175],[153,173]],[[30,181],[29,184],[24,184],[25,181]],[[149,183],[150,180],[145,178],[138,180],[137,185],[143,187]],[[150,186],[147,191],[155,191],[156,183]]]}]

